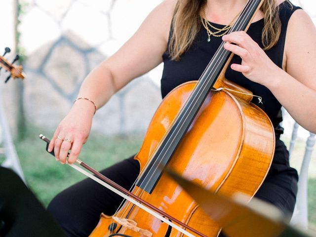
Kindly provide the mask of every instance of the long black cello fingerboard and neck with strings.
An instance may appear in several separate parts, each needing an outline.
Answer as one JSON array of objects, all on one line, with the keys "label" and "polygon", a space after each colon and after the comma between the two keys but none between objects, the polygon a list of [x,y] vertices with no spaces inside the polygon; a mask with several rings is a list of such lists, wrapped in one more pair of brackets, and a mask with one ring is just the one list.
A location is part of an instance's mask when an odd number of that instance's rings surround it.
[{"label": "long black cello fingerboard and neck with strings", "polygon": [[[259,10],[263,0],[249,0],[240,13],[236,23],[231,28],[231,32],[246,30],[257,10]],[[152,193],[160,176],[161,167],[166,166],[182,140],[182,137],[188,131],[193,119],[196,117],[199,108],[204,102],[209,91],[213,87],[225,66],[229,63],[231,53],[224,49],[224,42],[220,45],[217,52],[201,75],[196,87],[190,97],[182,107],[178,116],[173,121],[171,127],[166,133],[164,139],[160,142],[155,154],[152,156],[147,166],[141,173],[136,185]],[[160,168],[158,168],[160,167]]]}]

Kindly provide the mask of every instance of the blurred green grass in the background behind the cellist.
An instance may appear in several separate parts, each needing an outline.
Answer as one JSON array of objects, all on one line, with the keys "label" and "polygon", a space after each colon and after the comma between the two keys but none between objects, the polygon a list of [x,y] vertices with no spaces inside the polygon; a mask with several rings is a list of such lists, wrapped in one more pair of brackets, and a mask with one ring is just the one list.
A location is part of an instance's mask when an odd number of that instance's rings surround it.
[{"label": "blurred green grass in the background behind the cellist", "polygon": [[[47,206],[49,201],[60,191],[85,177],[68,165],[62,165],[45,151],[45,143],[39,139],[43,133],[51,137],[52,133],[39,128],[32,128],[25,134],[25,139],[16,142],[16,149],[29,187],[40,201]],[[101,170],[139,150],[142,136],[90,135],[83,146],[79,158],[91,167]],[[291,159],[294,167],[301,163],[304,143],[298,143]],[[1,161],[0,157],[0,161]],[[291,163],[292,163],[291,162]],[[309,180],[309,220],[316,226],[316,178]]]}]

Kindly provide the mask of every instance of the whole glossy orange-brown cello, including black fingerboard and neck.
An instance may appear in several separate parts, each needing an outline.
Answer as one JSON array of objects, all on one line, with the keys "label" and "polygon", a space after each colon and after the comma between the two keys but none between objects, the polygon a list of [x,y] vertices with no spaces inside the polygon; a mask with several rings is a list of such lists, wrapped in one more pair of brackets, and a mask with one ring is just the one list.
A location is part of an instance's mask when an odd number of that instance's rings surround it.
[{"label": "whole glossy orange-brown cello, including black fingerboard and neck", "polygon": [[[246,30],[261,2],[249,0],[231,32]],[[252,197],[274,155],[270,119],[251,103],[250,91],[224,78],[232,54],[223,45],[198,81],[184,83],[164,98],[135,156],[141,174],[131,193],[193,228],[196,232],[188,230],[193,236],[217,236],[220,227],[159,167],[168,166],[226,196],[242,192]],[[90,236],[181,235],[126,201],[114,216],[102,215]]]}]

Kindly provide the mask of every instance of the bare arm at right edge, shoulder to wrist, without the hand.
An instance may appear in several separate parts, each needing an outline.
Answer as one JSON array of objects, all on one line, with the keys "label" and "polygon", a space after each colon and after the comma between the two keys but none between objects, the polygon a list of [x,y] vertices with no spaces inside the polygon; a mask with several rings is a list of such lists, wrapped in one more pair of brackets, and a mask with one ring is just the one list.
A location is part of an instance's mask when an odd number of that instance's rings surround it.
[{"label": "bare arm at right edge, shoulder to wrist, without the hand", "polygon": [[285,41],[285,70],[269,89],[304,128],[316,132],[316,28],[303,10],[291,16]]}]

